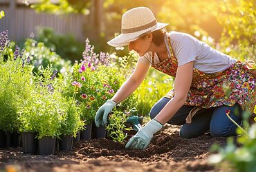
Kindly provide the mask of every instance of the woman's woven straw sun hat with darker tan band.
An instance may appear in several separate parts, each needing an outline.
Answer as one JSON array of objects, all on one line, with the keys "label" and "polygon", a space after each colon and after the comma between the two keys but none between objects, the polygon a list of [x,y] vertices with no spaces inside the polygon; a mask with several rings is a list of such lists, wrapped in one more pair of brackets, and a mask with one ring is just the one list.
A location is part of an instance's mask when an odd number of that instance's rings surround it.
[{"label": "woman's woven straw sun hat with darker tan band", "polygon": [[169,23],[158,23],[149,8],[132,8],[122,15],[122,34],[107,42],[113,47],[122,47],[145,33],[165,28]]}]

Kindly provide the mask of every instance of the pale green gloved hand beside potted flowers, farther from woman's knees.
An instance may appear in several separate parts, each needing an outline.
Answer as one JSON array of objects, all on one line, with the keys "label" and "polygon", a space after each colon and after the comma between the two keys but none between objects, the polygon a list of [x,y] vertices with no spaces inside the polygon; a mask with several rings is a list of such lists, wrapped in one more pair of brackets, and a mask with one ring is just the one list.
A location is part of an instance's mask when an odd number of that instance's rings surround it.
[{"label": "pale green gloved hand beside potted flowers, farther from woman's knees", "polygon": [[107,102],[98,109],[94,118],[96,127],[107,125],[107,115],[114,107],[116,107],[116,103],[113,100],[107,100]]}]

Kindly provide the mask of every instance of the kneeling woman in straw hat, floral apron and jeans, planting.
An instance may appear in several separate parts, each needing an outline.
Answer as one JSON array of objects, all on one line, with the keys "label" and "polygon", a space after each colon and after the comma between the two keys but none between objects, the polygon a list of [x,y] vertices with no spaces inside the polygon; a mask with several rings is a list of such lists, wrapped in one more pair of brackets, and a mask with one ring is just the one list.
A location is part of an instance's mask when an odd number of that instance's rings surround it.
[{"label": "kneeling woman in straw hat, floral apron and jeans, planting", "polygon": [[255,63],[243,63],[223,54],[190,34],[165,32],[149,8],[138,7],[122,15],[122,34],[109,41],[113,47],[128,45],[140,55],[136,69],[118,92],[98,109],[96,126],[107,124],[107,115],[142,83],[149,67],[174,76],[174,89],[152,107],[147,124],[125,145],[145,149],[165,123],[182,125],[182,138],[205,132],[212,137],[235,136],[243,111],[256,105]]}]

